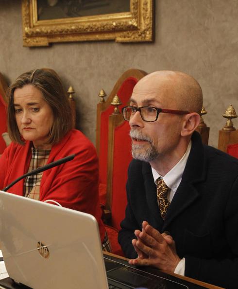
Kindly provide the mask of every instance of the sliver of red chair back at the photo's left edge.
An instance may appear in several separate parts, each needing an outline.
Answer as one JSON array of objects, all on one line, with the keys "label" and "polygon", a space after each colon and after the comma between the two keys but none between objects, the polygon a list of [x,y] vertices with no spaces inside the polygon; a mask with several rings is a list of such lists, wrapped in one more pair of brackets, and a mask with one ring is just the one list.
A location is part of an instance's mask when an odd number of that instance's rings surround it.
[{"label": "sliver of red chair back at the photo's left edge", "polygon": [[0,154],[3,153],[3,150],[6,148],[6,143],[2,138],[2,133],[7,131],[7,115],[6,115],[6,106],[5,106],[5,93],[7,90],[7,82],[4,79],[3,75],[0,73]]}]

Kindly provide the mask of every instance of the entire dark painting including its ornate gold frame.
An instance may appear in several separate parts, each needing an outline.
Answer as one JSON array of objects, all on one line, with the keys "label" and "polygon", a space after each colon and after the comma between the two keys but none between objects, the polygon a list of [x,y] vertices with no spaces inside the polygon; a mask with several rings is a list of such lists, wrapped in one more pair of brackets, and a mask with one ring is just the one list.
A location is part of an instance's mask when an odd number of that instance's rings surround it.
[{"label": "entire dark painting including its ornate gold frame", "polygon": [[24,46],[153,41],[153,0],[22,0]]}]

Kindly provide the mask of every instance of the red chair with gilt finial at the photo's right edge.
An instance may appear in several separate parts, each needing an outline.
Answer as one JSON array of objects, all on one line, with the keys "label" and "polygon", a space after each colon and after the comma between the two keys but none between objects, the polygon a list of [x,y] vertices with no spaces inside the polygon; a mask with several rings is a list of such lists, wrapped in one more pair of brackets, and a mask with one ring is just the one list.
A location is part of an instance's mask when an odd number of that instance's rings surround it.
[{"label": "red chair with gilt finial at the photo's right edge", "polygon": [[238,129],[232,123],[232,119],[237,118],[237,114],[233,106],[230,105],[222,116],[227,118],[227,122],[219,131],[218,149],[238,158]]}]

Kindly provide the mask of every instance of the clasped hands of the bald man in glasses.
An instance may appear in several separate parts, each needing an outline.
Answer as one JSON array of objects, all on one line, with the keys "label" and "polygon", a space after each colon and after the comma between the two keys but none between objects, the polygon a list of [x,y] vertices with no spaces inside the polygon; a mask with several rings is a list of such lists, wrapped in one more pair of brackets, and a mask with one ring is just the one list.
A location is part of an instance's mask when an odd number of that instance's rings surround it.
[{"label": "clasped hands of the bald man in glasses", "polygon": [[143,221],[142,231],[135,231],[132,244],[138,254],[137,259],[129,260],[131,265],[153,266],[174,272],[181,260],[176,253],[175,242],[170,235],[160,234],[148,222]]}]

